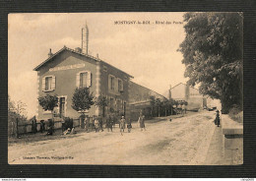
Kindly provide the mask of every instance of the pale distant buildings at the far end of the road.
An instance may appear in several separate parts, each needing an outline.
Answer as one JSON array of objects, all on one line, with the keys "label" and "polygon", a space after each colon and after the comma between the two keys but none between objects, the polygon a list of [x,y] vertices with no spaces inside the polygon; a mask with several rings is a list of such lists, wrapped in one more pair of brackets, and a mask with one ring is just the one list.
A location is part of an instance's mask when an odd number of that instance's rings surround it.
[{"label": "pale distant buildings at the far end of the road", "polygon": [[200,94],[199,90],[182,83],[170,88],[169,98],[176,101],[187,101],[187,110],[198,110],[207,106],[207,96]]}]

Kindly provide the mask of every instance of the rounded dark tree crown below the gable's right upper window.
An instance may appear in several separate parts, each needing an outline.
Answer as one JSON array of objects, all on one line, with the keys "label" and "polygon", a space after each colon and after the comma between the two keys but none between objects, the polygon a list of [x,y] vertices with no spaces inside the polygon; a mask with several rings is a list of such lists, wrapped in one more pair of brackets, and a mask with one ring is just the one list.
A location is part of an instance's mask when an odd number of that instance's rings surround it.
[{"label": "rounded dark tree crown below the gable's right upper window", "polygon": [[85,112],[94,105],[94,95],[89,88],[77,88],[72,97],[72,108],[76,111]]}]

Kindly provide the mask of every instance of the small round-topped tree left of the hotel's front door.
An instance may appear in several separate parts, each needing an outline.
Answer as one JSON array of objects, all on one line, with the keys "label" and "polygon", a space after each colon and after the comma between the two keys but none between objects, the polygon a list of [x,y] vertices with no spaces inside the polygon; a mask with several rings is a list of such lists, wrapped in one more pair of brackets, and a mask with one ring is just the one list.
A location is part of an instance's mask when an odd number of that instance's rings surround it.
[{"label": "small round-topped tree left of the hotel's front door", "polygon": [[39,105],[43,108],[43,110],[51,111],[52,119],[53,119],[53,109],[58,106],[58,97],[57,95],[47,94],[45,96],[38,97]]}]

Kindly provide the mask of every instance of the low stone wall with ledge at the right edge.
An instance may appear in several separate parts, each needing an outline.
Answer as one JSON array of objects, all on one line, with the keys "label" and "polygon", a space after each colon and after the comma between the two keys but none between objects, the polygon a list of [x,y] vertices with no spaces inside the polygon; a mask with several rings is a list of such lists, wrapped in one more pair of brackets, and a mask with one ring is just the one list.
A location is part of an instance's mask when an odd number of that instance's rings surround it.
[{"label": "low stone wall with ledge at the right edge", "polygon": [[243,125],[222,115],[224,158],[234,164],[243,163]]}]

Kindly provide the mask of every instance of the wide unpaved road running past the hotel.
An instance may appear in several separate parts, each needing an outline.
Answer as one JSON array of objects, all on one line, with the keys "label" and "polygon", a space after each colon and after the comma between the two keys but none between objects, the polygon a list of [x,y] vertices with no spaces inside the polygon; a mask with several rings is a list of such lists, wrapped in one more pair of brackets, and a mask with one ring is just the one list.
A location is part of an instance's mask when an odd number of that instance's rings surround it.
[{"label": "wide unpaved road running past the hotel", "polygon": [[[9,146],[9,164],[202,165],[215,132],[215,112],[147,123],[113,132],[62,135],[61,139]],[[63,138],[64,137],[64,138]]]}]

